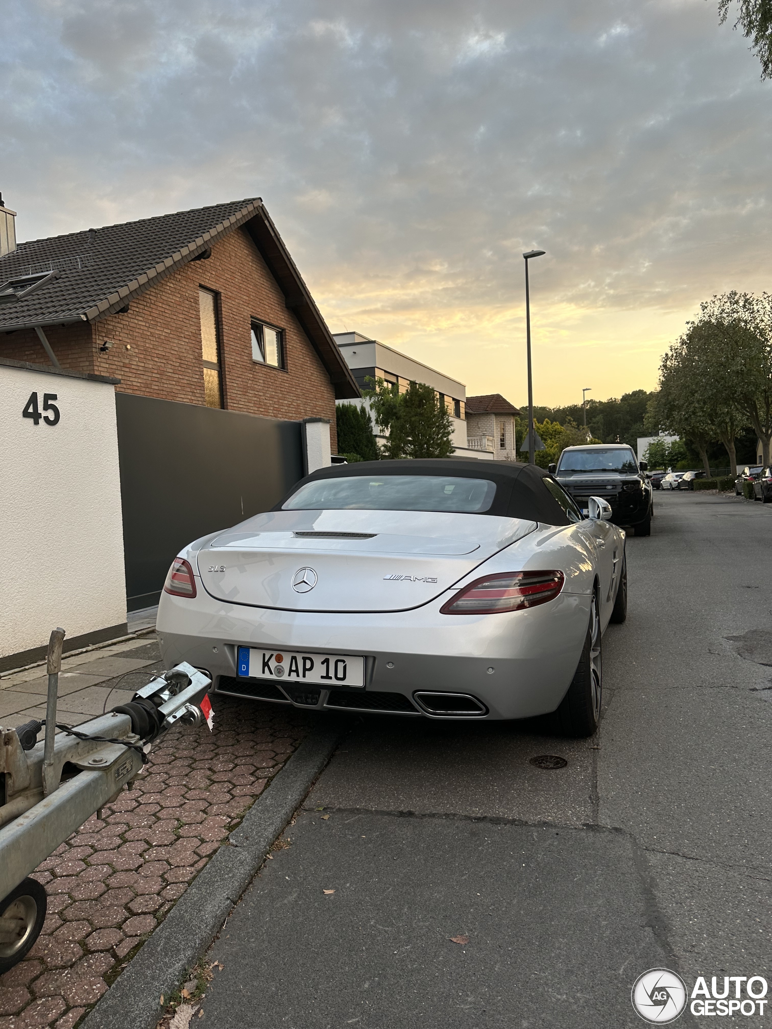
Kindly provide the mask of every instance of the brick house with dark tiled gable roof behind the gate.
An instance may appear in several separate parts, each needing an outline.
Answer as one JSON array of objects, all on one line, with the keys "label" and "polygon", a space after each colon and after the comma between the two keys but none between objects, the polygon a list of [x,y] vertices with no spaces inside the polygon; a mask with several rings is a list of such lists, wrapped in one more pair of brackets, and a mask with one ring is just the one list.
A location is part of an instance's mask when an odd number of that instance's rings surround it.
[{"label": "brick house with dark tiled gable roof behind the gate", "polygon": [[329,419],[334,452],[336,399],[360,395],[259,198],[17,245],[6,229],[0,356],[126,393]]}]

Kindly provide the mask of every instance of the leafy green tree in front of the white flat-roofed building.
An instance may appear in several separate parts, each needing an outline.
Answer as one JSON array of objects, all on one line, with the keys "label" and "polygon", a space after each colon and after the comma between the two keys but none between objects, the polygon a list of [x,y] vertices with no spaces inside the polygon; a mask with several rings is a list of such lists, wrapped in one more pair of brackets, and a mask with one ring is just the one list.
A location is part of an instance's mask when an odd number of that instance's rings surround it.
[{"label": "leafy green tree in front of the white flat-roofed building", "polygon": [[372,402],[376,422],[388,432],[384,457],[449,457],[453,453],[451,417],[431,386],[411,383],[406,393],[398,393],[383,379],[365,382],[374,383],[374,388],[363,395]]}]

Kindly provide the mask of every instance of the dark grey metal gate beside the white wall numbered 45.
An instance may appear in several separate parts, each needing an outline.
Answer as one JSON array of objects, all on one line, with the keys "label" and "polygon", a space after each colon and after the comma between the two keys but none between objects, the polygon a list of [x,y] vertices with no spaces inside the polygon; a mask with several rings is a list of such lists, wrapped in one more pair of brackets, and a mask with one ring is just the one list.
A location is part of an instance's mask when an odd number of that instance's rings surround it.
[{"label": "dark grey metal gate beside the white wall numbered 45", "polygon": [[269,510],[303,477],[301,422],[131,393],[116,393],[115,406],[127,600],[136,611],[159,602],[181,547]]}]

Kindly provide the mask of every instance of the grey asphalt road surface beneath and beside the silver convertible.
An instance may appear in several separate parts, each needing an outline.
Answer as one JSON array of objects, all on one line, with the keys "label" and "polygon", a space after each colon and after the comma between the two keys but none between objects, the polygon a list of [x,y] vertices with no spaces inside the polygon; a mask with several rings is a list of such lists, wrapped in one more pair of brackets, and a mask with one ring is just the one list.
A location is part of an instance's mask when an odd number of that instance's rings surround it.
[{"label": "grey asphalt road surface beneath and beside the silver convertible", "polygon": [[213,945],[197,1026],[620,1029],[647,968],[772,981],[772,508],[656,503],[598,735],[352,722]]}]

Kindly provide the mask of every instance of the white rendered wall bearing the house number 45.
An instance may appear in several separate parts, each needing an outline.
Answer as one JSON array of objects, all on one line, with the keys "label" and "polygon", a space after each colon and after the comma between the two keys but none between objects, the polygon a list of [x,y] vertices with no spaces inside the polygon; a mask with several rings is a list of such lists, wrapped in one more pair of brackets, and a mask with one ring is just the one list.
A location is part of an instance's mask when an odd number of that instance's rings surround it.
[{"label": "white rendered wall bearing the house number 45", "polygon": [[[59,424],[22,417],[33,392]],[[0,364],[0,658],[126,623],[113,387]]]}]

